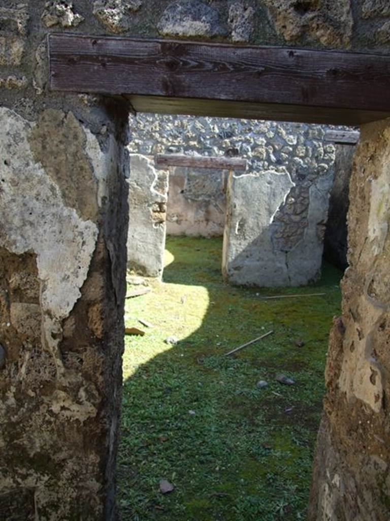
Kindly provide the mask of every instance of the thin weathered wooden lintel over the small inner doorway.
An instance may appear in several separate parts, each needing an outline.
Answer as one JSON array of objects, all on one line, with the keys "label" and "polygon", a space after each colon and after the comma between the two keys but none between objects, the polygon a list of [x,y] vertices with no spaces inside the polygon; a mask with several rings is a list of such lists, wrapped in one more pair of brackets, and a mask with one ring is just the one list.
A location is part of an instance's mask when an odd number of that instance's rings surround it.
[{"label": "thin weathered wooden lintel over the small inner doorway", "polygon": [[157,154],[156,163],[165,166],[194,168],[217,168],[219,170],[246,170],[246,159],[238,157],[185,156],[180,154]]}]

